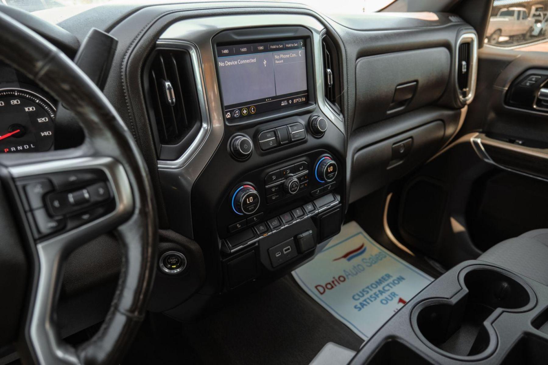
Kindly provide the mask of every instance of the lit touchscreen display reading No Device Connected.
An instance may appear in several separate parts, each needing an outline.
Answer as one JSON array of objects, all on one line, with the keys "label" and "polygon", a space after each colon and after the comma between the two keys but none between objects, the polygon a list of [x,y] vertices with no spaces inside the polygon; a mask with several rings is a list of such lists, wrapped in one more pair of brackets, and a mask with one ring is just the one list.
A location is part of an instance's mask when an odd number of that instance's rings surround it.
[{"label": "lit touchscreen display reading No Device Connected", "polygon": [[308,101],[305,40],[217,47],[227,120]]}]

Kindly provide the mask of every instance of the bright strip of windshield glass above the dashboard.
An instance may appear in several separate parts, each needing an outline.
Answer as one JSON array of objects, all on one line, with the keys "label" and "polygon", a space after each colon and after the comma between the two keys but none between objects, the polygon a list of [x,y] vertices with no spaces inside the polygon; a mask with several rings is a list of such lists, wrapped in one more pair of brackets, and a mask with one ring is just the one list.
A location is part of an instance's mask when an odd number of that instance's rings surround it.
[{"label": "bright strip of windshield glass above the dashboard", "polygon": [[[203,0],[181,1],[181,3],[197,2]],[[217,0],[218,1],[218,0]],[[224,1],[224,0],[221,0]],[[226,0],[229,1],[229,0]],[[272,0],[270,0],[272,1]],[[276,1],[276,0],[274,0]],[[372,13],[383,9],[395,0],[283,0],[283,2],[301,3],[309,5],[324,13]],[[147,0],[151,4],[155,3],[173,3],[169,0]],[[38,11],[59,7],[71,7],[75,5],[87,5],[93,7],[103,4],[130,4],[136,3],[135,0],[0,0],[0,3],[10,5],[26,11]]]}]

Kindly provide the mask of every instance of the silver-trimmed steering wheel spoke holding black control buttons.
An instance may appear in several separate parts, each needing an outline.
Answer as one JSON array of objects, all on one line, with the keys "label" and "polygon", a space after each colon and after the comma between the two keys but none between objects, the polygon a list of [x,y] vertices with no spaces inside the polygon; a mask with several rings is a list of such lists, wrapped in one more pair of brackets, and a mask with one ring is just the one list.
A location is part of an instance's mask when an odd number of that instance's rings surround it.
[{"label": "silver-trimmed steering wheel spoke holding black control buttons", "polygon": [[79,363],[56,333],[55,313],[64,263],[77,247],[124,229],[134,211],[123,166],[111,157],[51,159],[9,167],[36,244],[39,264],[30,340],[41,363]]}]

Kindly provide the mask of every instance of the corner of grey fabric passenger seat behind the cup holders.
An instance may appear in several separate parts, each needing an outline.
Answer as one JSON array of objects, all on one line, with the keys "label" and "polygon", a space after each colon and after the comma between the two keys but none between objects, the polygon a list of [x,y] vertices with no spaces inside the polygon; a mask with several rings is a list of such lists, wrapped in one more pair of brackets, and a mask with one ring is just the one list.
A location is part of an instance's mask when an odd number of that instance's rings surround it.
[{"label": "corner of grey fabric passenger seat behind the cup holders", "polygon": [[548,285],[548,229],[535,229],[489,248],[478,260]]}]

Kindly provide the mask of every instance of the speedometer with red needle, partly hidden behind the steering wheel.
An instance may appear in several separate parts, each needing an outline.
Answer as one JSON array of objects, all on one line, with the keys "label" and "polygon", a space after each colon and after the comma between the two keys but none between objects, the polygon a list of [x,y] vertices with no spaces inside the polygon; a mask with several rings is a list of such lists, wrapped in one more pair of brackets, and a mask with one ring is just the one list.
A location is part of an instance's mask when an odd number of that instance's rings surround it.
[{"label": "speedometer with red needle, partly hidden behind the steering wheel", "polygon": [[0,151],[38,152],[53,146],[55,107],[24,89],[0,89]]}]

